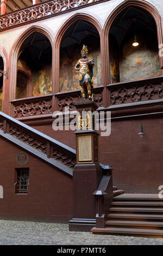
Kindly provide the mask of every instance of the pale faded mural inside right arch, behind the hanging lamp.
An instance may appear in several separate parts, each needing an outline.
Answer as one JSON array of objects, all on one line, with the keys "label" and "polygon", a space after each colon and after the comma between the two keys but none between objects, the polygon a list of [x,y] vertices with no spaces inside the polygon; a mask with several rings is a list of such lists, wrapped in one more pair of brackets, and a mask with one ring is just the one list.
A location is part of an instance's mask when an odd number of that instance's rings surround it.
[{"label": "pale faded mural inside right arch, behind the hanging lamp", "polygon": [[120,81],[132,81],[160,76],[160,62],[157,40],[151,42],[148,36],[139,35],[139,46],[134,47],[127,40],[120,59]]}]

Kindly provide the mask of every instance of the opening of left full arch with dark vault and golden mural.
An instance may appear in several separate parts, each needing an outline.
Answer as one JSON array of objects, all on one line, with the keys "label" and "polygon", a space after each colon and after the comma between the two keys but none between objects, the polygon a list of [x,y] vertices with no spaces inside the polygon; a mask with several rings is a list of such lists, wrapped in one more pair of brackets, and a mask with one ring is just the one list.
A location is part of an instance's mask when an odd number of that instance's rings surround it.
[{"label": "opening of left full arch with dark vault and golden mural", "polygon": [[33,32],[23,41],[18,54],[16,98],[51,93],[51,42],[46,35]]}]

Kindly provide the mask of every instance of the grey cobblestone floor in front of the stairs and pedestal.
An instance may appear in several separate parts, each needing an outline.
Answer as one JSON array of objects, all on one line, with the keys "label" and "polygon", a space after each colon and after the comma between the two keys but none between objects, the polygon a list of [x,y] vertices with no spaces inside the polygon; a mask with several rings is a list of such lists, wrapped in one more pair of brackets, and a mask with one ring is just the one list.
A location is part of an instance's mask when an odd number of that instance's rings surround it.
[{"label": "grey cobblestone floor in front of the stairs and pedestal", "polygon": [[92,235],[68,224],[0,220],[0,245],[163,245],[161,238]]}]

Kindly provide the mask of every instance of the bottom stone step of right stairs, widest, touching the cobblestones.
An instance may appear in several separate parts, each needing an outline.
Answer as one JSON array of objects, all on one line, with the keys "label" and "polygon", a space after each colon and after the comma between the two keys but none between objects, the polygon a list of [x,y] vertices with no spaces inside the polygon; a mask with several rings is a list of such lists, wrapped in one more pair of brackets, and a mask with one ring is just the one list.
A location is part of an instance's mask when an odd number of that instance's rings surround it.
[{"label": "bottom stone step of right stairs, widest, touching the cobblestones", "polygon": [[106,227],[106,228],[92,228],[93,234],[126,234],[126,235],[153,235],[153,236],[163,236],[163,230],[157,229],[134,229],[134,228],[116,228],[116,227]]}]

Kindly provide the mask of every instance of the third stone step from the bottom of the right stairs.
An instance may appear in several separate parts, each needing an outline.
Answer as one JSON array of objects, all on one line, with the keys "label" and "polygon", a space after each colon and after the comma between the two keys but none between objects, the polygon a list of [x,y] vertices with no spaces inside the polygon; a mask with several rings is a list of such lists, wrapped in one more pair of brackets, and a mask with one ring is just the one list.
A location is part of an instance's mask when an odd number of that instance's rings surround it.
[{"label": "third stone step from the bottom of the right stairs", "polygon": [[156,214],[108,214],[108,218],[134,218],[143,220],[163,220],[163,215]]}]

